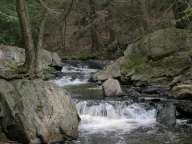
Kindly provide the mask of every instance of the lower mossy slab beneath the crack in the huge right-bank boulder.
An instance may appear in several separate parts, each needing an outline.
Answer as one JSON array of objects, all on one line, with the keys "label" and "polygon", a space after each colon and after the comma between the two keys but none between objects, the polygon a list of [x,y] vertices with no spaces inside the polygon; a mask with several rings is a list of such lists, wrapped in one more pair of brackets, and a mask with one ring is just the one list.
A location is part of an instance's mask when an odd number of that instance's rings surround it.
[{"label": "lower mossy slab beneath the crack in the huge right-bank boulder", "polygon": [[155,61],[148,61],[143,56],[126,57],[120,67],[121,73],[130,76],[132,80],[155,82],[169,81],[170,78],[182,74],[190,64],[191,58],[188,53],[181,52]]}]

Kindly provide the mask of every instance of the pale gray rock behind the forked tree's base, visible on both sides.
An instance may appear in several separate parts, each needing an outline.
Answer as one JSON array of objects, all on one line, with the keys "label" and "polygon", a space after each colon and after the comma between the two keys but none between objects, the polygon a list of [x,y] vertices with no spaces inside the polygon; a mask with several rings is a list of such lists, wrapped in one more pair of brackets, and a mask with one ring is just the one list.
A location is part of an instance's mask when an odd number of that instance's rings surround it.
[{"label": "pale gray rock behind the forked tree's base, visible on both sides", "polygon": [[[49,65],[61,65],[60,57],[54,52],[41,49],[39,55],[39,64],[42,69],[46,69]],[[24,61],[25,50],[23,48],[0,45],[0,69],[15,69],[17,65],[23,64]]]}]

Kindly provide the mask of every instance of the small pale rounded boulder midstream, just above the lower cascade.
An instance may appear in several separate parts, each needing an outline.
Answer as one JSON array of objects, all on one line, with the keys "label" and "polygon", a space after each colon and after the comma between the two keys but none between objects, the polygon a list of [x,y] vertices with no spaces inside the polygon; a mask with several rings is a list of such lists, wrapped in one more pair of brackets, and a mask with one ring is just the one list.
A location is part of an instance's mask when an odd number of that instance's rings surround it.
[{"label": "small pale rounded boulder midstream, just above the lower cascade", "polygon": [[118,80],[108,79],[103,83],[103,90],[105,96],[121,96],[123,91]]}]

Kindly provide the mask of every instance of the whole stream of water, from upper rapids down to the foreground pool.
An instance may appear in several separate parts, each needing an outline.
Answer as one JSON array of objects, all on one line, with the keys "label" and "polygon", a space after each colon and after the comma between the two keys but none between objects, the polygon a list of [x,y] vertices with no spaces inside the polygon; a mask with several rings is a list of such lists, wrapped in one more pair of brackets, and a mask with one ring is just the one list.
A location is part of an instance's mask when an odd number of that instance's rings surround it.
[{"label": "whole stream of water, from upper rapids down to the foreground pool", "polygon": [[81,118],[78,139],[64,144],[192,144],[190,132],[160,126],[150,103],[104,99],[101,88],[88,82],[96,71],[66,65],[63,76],[54,81],[72,93]]}]

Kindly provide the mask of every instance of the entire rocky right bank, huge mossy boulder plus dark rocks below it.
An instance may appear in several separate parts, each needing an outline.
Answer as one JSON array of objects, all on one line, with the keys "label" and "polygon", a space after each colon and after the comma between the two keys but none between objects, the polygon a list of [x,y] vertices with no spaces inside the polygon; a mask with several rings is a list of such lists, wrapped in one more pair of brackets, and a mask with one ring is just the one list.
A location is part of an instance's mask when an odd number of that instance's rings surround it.
[{"label": "entire rocky right bank, huge mossy boulder plus dark rocks below it", "polygon": [[192,114],[191,33],[168,28],[144,36],[129,45],[124,56],[96,73],[93,79],[119,80],[124,92],[142,99],[175,101],[183,117]]}]

